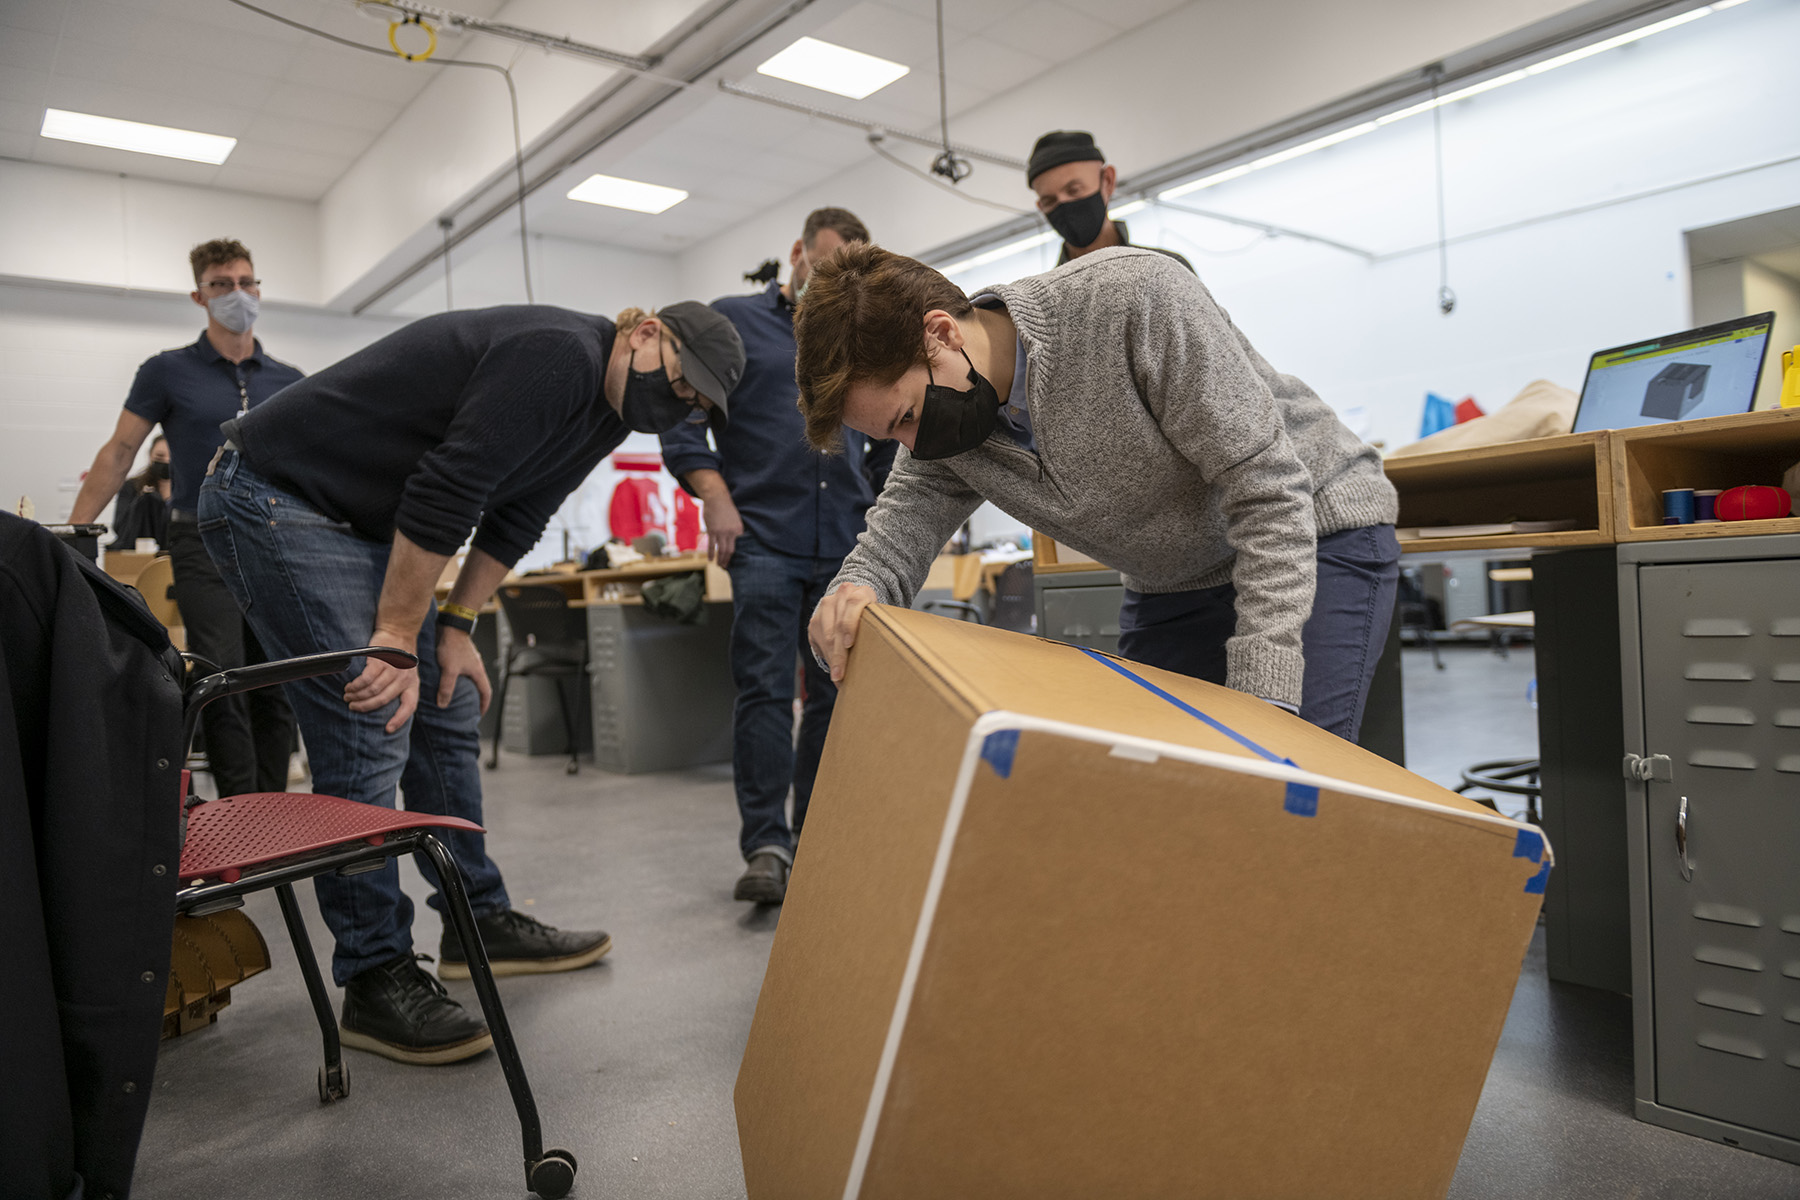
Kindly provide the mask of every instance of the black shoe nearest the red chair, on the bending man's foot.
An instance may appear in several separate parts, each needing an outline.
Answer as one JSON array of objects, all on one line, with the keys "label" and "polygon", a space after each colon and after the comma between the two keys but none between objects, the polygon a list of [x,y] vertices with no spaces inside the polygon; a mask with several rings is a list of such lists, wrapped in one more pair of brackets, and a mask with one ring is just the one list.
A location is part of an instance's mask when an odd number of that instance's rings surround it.
[{"label": "black shoe nearest the red chair, on the bending man's foot", "polygon": [[486,1022],[452,1000],[419,957],[403,954],[344,984],[338,1040],[396,1063],[454,1063],[491,1049]]}]

